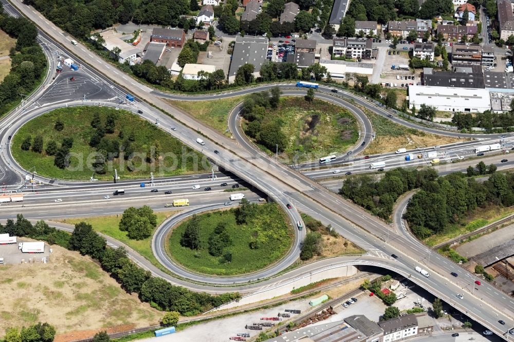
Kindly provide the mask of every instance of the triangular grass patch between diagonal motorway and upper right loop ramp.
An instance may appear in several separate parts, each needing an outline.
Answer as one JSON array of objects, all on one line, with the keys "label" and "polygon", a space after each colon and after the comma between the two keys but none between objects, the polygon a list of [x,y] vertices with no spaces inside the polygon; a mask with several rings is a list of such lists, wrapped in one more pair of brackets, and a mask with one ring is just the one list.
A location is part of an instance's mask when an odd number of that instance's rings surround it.
[{"label": "triangular grass patch between diagonal motorway and upper right loop ramp", "polygon": [[[171,101],[168,102],[206,125],[225,134],[228,114],[241,101],[242,96],[210,101]],[[228,134],[230,136],[230,134]]]}]

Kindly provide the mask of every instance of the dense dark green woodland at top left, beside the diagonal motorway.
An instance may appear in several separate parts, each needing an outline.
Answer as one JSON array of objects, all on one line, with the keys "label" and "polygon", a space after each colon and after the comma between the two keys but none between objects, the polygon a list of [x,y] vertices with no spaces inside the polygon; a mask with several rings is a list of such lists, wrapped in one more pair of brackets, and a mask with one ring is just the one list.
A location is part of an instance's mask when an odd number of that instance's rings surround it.
[{"label": "dense dark green woodland at top left, beside the diagonal motorway", "polygon": [[175,27],[179,17],[189,14],[190,0],[27,0],[48,20],[76,37],[88,37],[90,32],[116,23],[133,21]]}]

